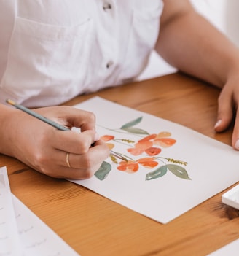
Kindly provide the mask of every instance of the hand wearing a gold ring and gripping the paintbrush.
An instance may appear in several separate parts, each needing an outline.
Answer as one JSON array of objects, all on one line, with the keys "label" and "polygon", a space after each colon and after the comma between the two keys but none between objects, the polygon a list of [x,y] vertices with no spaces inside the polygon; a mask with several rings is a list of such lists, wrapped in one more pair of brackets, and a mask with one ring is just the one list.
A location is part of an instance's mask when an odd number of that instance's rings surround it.
[{"label": "hand wearing a gold ring and gripping the paintbrush", "polygon": [[77,133],[59,131],[17,109],[5,110],[8,115],[0,128],[4,136],[1,152],[37,171],[57,178],[86,179],[109,156],[109,148],[95,133],[95,115],[91,112],[70,106],[34,110],[68,128],[80,128]]}]

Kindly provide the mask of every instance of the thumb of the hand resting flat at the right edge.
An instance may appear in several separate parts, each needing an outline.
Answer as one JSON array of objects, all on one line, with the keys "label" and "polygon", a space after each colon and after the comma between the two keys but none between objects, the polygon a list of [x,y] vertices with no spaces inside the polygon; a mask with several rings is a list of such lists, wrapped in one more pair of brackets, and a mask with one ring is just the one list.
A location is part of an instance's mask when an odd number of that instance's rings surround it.
[{"label": "thumb of the hand resting flat at the right edge", "polygon": [[221,132],[227,129],[230,123],[232,122],[232,117],[232,95],[222,90],[222,93],[219,96],[218,115],[216,124],[214,126],[215,131]]}]

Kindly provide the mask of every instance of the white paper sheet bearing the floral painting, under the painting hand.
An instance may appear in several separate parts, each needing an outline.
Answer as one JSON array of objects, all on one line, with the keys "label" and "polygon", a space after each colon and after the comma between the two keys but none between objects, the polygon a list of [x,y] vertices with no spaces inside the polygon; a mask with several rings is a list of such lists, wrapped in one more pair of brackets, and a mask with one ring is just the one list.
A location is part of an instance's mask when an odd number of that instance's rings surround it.
[{"label": "white paper sheet bearing the floral painting, under the painting hand", "polygon": [[[114,136],[114,139],[107,141],[114,145],[112,150],[127,155],[134,161],[149,155],[146,152],[137,156],[130,154],[128,149],[135,148],[136,145],[122,139],[136,142],[146,135],[138,136],[128,131],[142,129],[149,134],[157,134],[161,139],[165,135],[166,144],[167,139],[169,143],[173,139],[176,140],[170,147],[153,145],[162,151],[159,155],[154,155],[158,165],[152,169],[138,164],[138,171],[128,174],[119,171],[119,163],[113,163],[111,158],[108,158],[106,162],[111,166],[111,171],[105,179],[100,180],[93,176],[85,180],[71,180],[153,220],[167,223],[239,180],[238,152],[226,144],[182,125],[99,97],[91,98],[75,107],[94,112],[98,133],[101,136]],[[173,158],[175,163],[165,158]],[[187,166],[175,160],[187,162]],[[174,167],[171,166],[171,170],[162,167],[161,175],[165,175],[146,180],[146,174],[168,164],[173,164]],[[188,179],[185,179],[184,170],[175,166],[184,168]],[[183,178],[179,177],[180,174]]]}]

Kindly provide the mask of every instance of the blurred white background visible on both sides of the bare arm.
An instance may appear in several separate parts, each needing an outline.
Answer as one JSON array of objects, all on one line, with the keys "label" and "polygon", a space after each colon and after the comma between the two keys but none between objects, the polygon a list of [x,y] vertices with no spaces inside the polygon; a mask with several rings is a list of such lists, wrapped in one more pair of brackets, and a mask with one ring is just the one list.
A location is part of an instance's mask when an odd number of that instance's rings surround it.
[{"label": "blurred white background visible on both sides of the bare arm", "polygon": [[[179,1],[179,0],[178,0]],[[190,0],[195,9],[239,46],[239,0]],[[138,79],[149,79],[175,72],[157,53]]]}]

